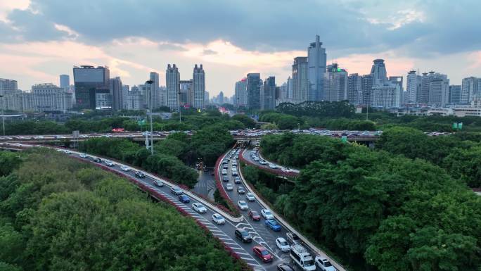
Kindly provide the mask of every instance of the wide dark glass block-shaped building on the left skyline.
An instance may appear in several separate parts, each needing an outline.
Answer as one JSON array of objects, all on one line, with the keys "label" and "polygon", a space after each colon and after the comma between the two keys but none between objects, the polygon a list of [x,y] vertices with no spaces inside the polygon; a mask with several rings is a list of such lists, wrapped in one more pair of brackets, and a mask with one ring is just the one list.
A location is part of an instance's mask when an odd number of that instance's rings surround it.
[{"label": "wide dark glass block-shaped building on the left skyline", "polygon": [[[74,66],[73,75],[77,109],[108,107],[110,71],[107,66],[97,68],[89,65]],[[99,99],[98,102],[97,99]]]}]

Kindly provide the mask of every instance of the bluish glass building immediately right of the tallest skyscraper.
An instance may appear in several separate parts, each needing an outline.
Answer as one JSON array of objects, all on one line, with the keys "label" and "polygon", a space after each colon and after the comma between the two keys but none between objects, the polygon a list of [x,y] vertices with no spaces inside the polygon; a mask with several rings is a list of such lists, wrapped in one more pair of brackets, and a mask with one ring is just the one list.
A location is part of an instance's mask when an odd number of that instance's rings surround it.
[{"label": "bluish glass building immediately right of the tallest skyscraper", "polygon": [[323,101],[347,100],[347,71],[337,63],[328,65],[324,73]]}]

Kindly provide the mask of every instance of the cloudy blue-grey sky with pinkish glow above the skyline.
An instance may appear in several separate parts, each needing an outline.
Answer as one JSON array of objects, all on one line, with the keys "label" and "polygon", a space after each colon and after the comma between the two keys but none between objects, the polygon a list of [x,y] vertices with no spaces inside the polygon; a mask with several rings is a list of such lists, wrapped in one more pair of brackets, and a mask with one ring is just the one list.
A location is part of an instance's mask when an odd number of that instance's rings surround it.
[{"label": "cloudy blue-grey sky with pinkish glow above the skyline", "polygon": [[20,89],[70,75],[73,65],[108,65],[124,84],[167,63],[181,80],[203,63],[211,96],[233,94],[245,74],[291,74],[315,34],[328,63],[366,74],[384,58],[388,75],[447,73],[451,84],[481,77],[480,0],[1,0],[0,77]]}]

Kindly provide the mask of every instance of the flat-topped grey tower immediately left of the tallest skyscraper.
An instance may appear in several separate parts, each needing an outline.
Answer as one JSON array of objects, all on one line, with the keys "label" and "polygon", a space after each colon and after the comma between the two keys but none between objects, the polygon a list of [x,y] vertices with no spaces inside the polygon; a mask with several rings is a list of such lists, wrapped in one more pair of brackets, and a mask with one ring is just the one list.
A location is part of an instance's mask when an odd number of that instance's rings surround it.
[{"label": "flat-topped grey tower immediately left of the tallest skyscraper", "polygon": [[309,66],[307,57],[297,56],[293,64],[293,103],[302,103],[309,99]]}]

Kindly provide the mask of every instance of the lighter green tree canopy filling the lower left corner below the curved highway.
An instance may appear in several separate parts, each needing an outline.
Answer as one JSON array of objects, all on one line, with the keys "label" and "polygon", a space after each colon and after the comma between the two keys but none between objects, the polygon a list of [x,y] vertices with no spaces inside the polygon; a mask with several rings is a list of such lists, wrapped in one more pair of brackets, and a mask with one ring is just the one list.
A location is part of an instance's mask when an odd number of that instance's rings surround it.
[{"label": "lighter green tree canopy filling the lower left corner below the curved highway", "polygon": [[193,220],[60,153],[32,151],[0,187],[0,270],[241,270]]}]

